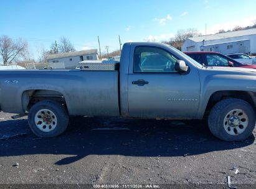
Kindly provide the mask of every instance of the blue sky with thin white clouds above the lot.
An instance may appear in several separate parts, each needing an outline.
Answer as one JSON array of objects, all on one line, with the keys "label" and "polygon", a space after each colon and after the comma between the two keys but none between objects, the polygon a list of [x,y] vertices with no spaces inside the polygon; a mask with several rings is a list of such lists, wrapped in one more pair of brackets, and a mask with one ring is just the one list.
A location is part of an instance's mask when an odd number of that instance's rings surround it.
[{"label": "blue sky with thin white clouds above the lot", "polygon": [[59,1],[8,0],[0,2],[0,35],[27,40],[31,55],[48,49],[65,36],[77,50],[98,48],[110,51],[121,42],[161,41],[177,30],[196,28],[205,34],[219,29],[252,25],[256,20],[255,0],[220,1]]}]

